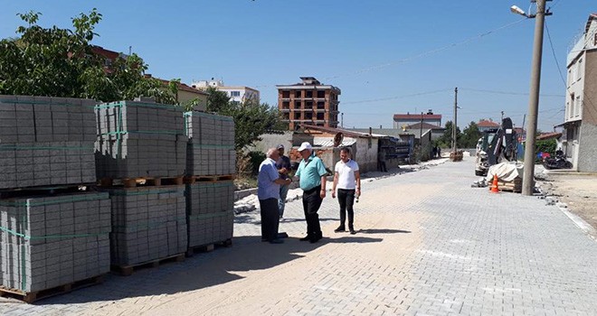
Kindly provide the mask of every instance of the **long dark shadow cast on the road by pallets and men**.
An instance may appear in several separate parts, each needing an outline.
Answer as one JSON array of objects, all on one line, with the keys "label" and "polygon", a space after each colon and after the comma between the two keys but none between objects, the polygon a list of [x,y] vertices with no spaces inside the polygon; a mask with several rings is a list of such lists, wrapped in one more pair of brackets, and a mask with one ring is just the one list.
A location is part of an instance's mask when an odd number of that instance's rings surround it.
[{"label": "long dark shadow cast on the road by pallets and men", "polygon": [[[381,238],[324,237],[315,244],[284,239],[284,244],[261,242],[261,237],[234,237],[231,247],[216,247],[209,253],[195,254],[184,262],[166,263],[156,268],[140,269],[130,276],[107,275],[104,283],[53,296],[34,305],[83,302],[109,302],[126,298],[175,294],[204,289],[242,279],[239,272],[269,269],[303,257],[305,253],[327,243],[380,242]],[[22,303],[22,302],[15,302]]]}]

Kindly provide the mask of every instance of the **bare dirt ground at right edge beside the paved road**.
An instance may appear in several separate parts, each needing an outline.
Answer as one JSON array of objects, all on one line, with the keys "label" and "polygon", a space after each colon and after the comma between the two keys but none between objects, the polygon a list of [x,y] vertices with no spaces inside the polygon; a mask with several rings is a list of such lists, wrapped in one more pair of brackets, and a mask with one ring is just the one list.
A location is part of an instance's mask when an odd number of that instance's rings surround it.
[{"label": "bare dirt ground at right edge beside the paved road", "polygon": [[597,229],[597,174],[548,173],[541,187]]}]

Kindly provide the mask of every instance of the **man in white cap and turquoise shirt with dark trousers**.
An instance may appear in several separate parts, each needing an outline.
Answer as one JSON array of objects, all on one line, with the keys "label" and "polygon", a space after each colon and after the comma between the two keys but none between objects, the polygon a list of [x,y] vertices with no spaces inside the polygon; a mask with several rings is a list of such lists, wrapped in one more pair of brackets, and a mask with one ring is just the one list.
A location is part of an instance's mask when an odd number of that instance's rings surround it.
[{"label": "man in white cap and turquoise shirt with dark trousers", "polygon": [[300,240],[316,243],[323,237],[317,211],[326,197],[327,170],[308,142],[300,144],[299,153],[303,159],[295,175],[299,177],[300,189],[303,190],[303,210],[307,220],[307,237]]}]

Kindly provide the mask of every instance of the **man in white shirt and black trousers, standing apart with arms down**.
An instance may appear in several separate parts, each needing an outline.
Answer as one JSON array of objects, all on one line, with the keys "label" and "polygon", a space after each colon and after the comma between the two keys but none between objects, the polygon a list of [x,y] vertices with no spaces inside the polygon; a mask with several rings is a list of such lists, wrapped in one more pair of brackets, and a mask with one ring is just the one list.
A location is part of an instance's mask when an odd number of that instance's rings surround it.
[{"label": "man in white shirt and black trousers, standing apart with arms down", "polygon": [[336,233],[346,231],[346,212],[348,212],[348,230],[350,234],[355,235],[355,196],[361,195],[361,175],[358,172],[358,163],[350,159],[350,149],[344,147],[340,149],[340,161],[336,163],[334,169],[334,186],[332,188],[332,198],[336,198],[336,188],[338,202],[340,203],[340,226],[334,229]]}]

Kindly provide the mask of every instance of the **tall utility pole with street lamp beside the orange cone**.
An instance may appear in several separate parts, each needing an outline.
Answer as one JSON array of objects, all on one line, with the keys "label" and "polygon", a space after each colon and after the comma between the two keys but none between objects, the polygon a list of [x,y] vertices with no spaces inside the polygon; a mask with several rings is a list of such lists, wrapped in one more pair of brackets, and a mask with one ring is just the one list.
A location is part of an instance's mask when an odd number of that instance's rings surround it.
[{"label": "tall utility pole with street lamp beside the orange cone", "polygon": [[[528,96],[528,123],[526,125],[525,144],[525,173],[523,175],[523,195],[533,195],[535,187],[535,134],[537,130],[537,112],[539,108],[539,86],[541,83],[541,57],[543,53],[543,28],[545,15],[551,15],[545,10],[547,0],[531,0],[536,2],[535,14],[526,14],[525,11],[512,5],[510,11],[515,14],[535,18],[535,40],[533,42],[533,61],[531,66],[531,85]],[[551,0],[549,0],[551,1]]]}]

